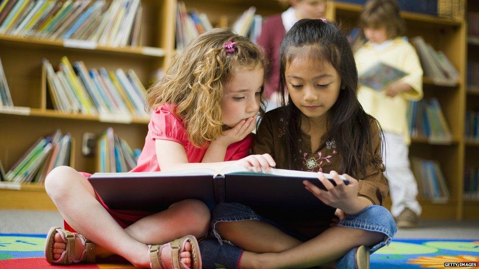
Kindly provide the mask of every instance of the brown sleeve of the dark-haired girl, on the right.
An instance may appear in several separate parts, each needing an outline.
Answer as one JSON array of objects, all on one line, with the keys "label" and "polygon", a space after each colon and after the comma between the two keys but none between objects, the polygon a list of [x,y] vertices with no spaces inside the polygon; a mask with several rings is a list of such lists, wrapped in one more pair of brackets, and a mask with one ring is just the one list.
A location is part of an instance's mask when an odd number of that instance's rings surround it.
[{"label": "brown sleeve of the dark-haired girl, on the right", "polygon": [[379,128],[373,125],[373,148],[374,156],[368,160],[364,176],[358,178],[358,196],[368,198],[375,205],[383,205],[389,191],[388,182],[384,177],[384,165],[381,157],[381,137]]}]

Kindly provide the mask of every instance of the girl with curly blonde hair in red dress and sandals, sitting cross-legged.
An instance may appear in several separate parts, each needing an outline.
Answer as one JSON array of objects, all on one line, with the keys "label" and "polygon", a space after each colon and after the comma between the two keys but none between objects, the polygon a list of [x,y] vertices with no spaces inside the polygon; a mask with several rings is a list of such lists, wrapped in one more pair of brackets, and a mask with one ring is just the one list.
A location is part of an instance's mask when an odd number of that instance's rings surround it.
[{"label": "girl with curly blonde hair in red dress and sandals, sitting cross-legged", "polygon": [[[131,172],[274,166],[267,154],[248,156],[261,105],[263,59],[261,49],[227,30],[213,29],[193,40],[149,90],[151,121]],[[66,222],[65,229],[53,227],[47,236],[49,263],[94,262],[118,254],[136,267],[201,268],[196,237],[206,234],[210,221],[203,202],[188,199],[159,213],[118,212],[95,193],[88,176],[70,167],[47,176],[47,193]]]}]

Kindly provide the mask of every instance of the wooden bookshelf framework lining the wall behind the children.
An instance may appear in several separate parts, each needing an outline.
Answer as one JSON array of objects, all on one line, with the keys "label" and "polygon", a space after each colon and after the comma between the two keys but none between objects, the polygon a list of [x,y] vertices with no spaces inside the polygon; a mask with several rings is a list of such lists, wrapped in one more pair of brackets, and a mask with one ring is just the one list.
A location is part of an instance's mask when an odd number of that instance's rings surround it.
[{"label": "wooden bookshelf framework lining the wall behind the children", "polygon": [[[81,154],[83,132],[101,133],[112,126],[115,134],[124,138],[133,148],[143,146],[148,120],[132,118],[128,122],[117,122],[105,121],[100,116],[62,114],[53,111],[51,107],[45,108],[46,97],[42,96],[41,89],[41,59],[47,58],[56,65],[64,55],[72,62],[83,60],[89,68],[105,67],[107,70],[131,68],[138,74],[143,84],[148,86],[152,82],[152,74],[158,68],[165,68],[175,53],[177,0],[141,2],[145,13],[141,31],[143,47],[109,48],[81,43],[77,46],[75,44],[65,46],[62,41],[0,36],[0,57],[13,101],[17,106],[29,108],[29,112],[23,114],[0,111],[2,126],[8,126],[7,131],[0,132],[0,158],[6,170],[39,136],[44,136],[56,128],[60,128],[63,133],[70,132],[76,139],[78,145],[75,152],[75,168],[79,171],[94,172],[96,169],[96,158]],[[469,2],[472,5],[475,1]],[[253,5],[257,7],[257,13],[263,16],[280,13],[286,9],[284,3],[279,0],[185,0],[185,4],[188,10],[204,12],[214,26],[222,27],[233,24],[243,11]],[[348,31],[357,24],[361,10],[361,5],[331,0],[328,1],[327,19],[340,22],[345,31]],[[464,171],[466,147],[476,148],[475,143],[466,142],[464,139],[466,96],[469,98],[476,94],[472,91],[467,91],[466,94],[467,83],[464,83],[466,49],[470,44],[466,34],[466,23],[464,19],[448,20],[413,12],[402,12],[401,16],[406,21],[409,38],[422,35],[435,49],[444,51],[461,73],[457,85],[438,85],[432,79],[424,78],[425,93],[438,98],[451,126],[453,140],[448,145],[436,145],[425,138],[412,139],[411,156],[438,160],[452,194],[452,198],[446,204],[419,199],[424,209],[423,217],[479,218],[479,214],[470,214],[473,211],[479,212],[479,202],[463,202],[463,180],[457,176],[462,175]],[[467,152],[470,153],[471,150]],[[468,156],[473,155],[469,153]],[[10,192],[9,196],[4,196],[7,191]],[[8,202],[16,199],[12,198],[12,192],[17,194],[18,202]],[[20,191],[0,189],[0,208],[54,209],[48,201],[39,206],[22,203],[22,199],[36,193],[46,195],[41,186],[26,185],[22,186]]]}]

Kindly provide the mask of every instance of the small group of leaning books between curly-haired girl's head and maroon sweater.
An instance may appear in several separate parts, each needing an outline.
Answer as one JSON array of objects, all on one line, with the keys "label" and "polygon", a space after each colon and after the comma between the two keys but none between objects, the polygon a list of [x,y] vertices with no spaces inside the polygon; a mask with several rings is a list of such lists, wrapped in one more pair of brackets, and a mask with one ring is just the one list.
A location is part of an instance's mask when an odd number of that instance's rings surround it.
[{"label": "small group of leaning books between curly-haired girl's head and maroon sweater", "polygon": [[241,36],[246,36],[256,42],[261,34],[263,17],[256,13],[256,7],[252,6],[244,11],[239,19],[233,24],[233,31]]}]

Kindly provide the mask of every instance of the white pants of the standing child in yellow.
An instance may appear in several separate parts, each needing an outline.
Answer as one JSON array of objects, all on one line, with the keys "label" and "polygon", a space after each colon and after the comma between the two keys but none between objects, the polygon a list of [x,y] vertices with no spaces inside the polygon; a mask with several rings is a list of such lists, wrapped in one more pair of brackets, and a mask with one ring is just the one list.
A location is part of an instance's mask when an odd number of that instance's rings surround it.
[{"label": "white pants of the standing child in yellow", "polygon": [[386,150],[383,150],[382,158],[386,167],[384,176],[388,179],[393,202],[391,214],[398,217],[407,207],[419,216],[422,209],[416,200],[418,185],[409,163],[409,147],[405,145],[401,135],[384,132],[384,136]]}]

